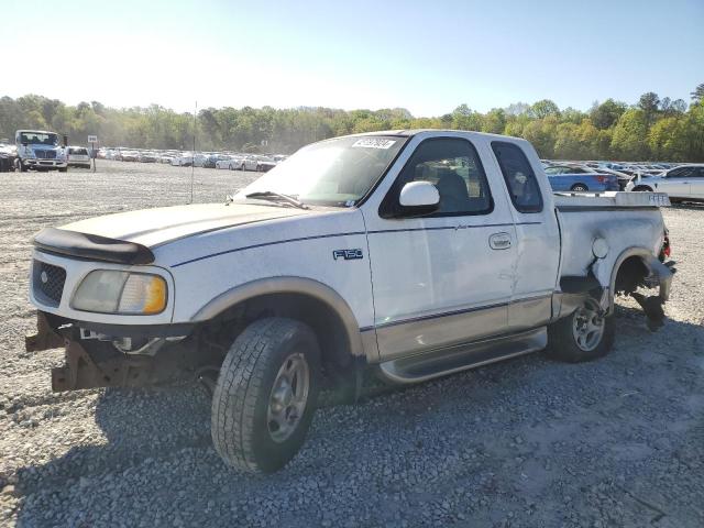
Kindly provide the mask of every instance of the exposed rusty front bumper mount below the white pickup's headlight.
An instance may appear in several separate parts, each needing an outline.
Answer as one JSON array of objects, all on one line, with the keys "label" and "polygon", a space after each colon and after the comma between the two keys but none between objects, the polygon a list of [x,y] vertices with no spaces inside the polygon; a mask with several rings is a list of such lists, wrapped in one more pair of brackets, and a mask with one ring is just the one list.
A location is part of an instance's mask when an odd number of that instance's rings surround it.
[{"label": "exposed rusty front bumper mount below the white pickup's headlight", "polygon": [[[188,333],[183,326],[169,330],[154,329],[157,336],[125,337],[125,329],[111,334],[86,329],[78,322],[68,322],[51,314],[37,312],[37,332],[25,338],[28,352],[64,346],[66,362],[52,369],[52,391],[77,391],[97,387],[140,387],[173,377],[185,366],[183,356],[175,351],[157,358],[164,344],[177,344]],[[102,327],[101,330],[110,331]],[[144,332],[132,332],[144,333]],[[175,336],[182,333],[180,336]],[[140,344],[133,348],[133,343]],[[141,344],[145,343],[145,344]]]}]

